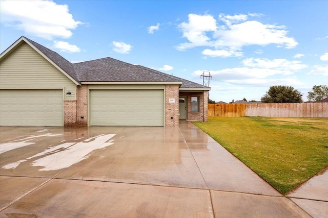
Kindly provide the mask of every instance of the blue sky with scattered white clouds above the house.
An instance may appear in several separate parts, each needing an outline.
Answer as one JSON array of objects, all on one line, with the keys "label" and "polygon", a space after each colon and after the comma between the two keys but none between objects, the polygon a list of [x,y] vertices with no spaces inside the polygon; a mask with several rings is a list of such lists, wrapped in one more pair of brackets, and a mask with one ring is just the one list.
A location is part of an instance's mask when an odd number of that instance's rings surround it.
[{"label": "blue sky with scattered white clouds above the house", "polygon": [[71,62],[111,57],[257,100],[328,85],[328,1],[1,1],[0,50],[24,35]]}]

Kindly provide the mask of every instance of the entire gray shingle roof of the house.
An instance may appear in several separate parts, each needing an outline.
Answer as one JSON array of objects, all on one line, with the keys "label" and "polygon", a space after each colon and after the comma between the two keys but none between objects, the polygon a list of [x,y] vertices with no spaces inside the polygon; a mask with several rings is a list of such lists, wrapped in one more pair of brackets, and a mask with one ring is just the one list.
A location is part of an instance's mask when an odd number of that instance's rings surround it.
[{"label": "entire gray shingle roof of the house", "polygon": [[24,36],[22,38],[33,44],[40,52],[77,82],[182,82],[180,88],[209,89],[207,86],[189,80],[113,58],[101,58],[72,64],[47,47]]}]

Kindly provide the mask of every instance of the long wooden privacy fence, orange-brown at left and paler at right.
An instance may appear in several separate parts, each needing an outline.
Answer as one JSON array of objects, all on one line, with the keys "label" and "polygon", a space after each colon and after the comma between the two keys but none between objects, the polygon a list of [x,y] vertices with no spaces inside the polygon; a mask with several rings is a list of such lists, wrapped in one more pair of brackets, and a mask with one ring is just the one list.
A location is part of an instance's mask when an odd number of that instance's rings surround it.
[{"label": "long wooden privacy fence, orange-brown at left and paler at right", "polygon": [[328,103],[209,104],[208,116],[328,117]]}]

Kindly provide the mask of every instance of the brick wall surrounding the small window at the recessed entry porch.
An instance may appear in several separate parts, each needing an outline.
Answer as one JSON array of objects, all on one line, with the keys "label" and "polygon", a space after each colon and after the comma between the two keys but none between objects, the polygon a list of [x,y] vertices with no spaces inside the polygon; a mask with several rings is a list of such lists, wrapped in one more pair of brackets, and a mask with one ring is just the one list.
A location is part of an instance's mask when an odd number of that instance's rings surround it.
[{"label": "brick wall surrounding the small window at the recessed entry porch", "polygon": [[[187,96],[187,119],[207,122],[207,91],[204,92],[180,92],[179,96]],[[199,97],[199,112],[191,112],[191,97]],[[205,98],[205,101],[204,101]],[[205,104],[206,103],[206,104]]]}]

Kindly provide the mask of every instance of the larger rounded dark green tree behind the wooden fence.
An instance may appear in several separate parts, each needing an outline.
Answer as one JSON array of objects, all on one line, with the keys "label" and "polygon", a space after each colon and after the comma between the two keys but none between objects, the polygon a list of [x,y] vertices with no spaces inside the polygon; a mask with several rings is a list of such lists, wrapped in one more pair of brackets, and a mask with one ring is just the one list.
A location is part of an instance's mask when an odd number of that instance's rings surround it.
[{"label": "larger rounded dark green tree behind the wooden fence", "polygon": [[302,102],[302,95],[292,86],[270,86],[261,98],[262,103],[296,103]]}]

